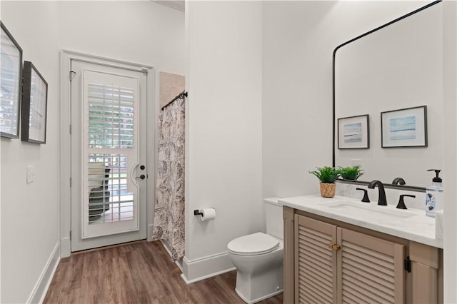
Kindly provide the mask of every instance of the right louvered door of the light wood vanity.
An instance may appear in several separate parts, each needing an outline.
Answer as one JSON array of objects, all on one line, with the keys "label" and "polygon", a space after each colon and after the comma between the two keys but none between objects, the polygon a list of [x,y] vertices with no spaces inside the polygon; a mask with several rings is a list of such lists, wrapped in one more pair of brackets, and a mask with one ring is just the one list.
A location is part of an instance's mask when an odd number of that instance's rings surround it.
[{"label": "right louvered door of the light wood vanity", "polygon": [[337,228],[338,303],[404,303],[403,245]]}]

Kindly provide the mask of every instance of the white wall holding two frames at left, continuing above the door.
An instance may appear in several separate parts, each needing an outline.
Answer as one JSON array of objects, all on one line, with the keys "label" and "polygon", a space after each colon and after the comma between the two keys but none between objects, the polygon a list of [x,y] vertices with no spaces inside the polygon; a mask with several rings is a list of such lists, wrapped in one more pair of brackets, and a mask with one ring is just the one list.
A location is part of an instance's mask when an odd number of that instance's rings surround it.
[{"label": "white wall holding two frames at left, continuing above the door", "polygon": [[[59,100],[59,51],[184,74],[184,13],[152,1],[1,1],[1,21],[49,83],[46,145],[1,138],[0,302],[25,303],[36,300],[29,297],[59,245],[60,208],[68,204],[59,199],[60,103],[67,102]],[[26,184],[27,165],[36,168],[34,183]]]}]

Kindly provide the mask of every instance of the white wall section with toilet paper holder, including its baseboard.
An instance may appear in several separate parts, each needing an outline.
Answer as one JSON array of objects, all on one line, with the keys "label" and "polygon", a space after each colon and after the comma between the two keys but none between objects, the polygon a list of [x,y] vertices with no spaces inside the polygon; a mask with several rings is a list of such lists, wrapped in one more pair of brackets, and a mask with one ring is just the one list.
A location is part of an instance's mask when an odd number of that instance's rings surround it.
[{"label": "white wall section with toilet paper holder, including its baseboard", "polygon": [[[262,229],[262,3],[189,1],[186,257],[196,280],[231,268],[226,245]],[[194,209],[214,207],[201,223]]]}]

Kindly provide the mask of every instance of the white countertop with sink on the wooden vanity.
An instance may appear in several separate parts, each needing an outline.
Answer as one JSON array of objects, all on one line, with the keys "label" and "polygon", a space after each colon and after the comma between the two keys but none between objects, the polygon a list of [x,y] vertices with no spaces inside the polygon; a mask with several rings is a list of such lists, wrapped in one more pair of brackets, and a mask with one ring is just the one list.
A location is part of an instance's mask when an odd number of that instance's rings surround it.
[{"label": "white countertop with sink on the wooden vanity", "polygon": [[403,210],[391,205],[378,206],[377,202],[362,203],[355,198],[343,196],[296,196],[279,198],[279,203],[398,238],[443,248],[443,240],[435,238],[435,218],[425,216],[423,210]]}]

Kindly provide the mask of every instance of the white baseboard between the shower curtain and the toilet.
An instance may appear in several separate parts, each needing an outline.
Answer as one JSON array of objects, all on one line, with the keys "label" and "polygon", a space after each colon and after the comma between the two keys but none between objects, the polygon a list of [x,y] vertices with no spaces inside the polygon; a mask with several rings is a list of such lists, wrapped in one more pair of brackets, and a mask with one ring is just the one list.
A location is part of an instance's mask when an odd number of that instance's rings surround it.
[{"label": "white baseboard between the shower curtain and the toilet", "polygon": [[188,260],[184,257],[182,266],[181,278],[187,284],[236,270],[231,263],[228,252],[209,255],[196,260]]}]

